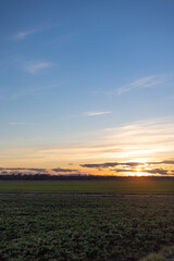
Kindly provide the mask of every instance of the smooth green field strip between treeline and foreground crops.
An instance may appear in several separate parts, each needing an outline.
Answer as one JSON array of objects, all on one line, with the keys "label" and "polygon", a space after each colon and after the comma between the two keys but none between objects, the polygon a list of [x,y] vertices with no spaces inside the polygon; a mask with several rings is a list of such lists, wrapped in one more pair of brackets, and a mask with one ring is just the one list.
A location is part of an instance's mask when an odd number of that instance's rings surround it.
[{"label": "smooth green field strip between treeline and foreground crops", "polygon": [[0,182],[0,192],[174,194],[174,181]]}]

